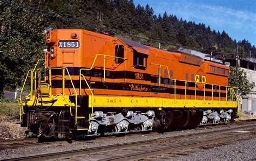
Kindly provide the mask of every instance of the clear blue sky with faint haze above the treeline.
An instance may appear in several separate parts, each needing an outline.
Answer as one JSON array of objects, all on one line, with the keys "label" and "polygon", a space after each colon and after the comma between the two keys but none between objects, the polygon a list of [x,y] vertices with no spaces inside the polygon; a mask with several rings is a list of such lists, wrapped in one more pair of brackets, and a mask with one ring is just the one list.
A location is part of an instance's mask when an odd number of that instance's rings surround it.
[{"label": "clear blue sky with faint haze above the treeline", "polygon": [[224,30],[234,40],[248,40],[256,46],[256,0],[133,0],[149,4],[155,15],[166,11],[187,22],[204,23],[211,30]]}]

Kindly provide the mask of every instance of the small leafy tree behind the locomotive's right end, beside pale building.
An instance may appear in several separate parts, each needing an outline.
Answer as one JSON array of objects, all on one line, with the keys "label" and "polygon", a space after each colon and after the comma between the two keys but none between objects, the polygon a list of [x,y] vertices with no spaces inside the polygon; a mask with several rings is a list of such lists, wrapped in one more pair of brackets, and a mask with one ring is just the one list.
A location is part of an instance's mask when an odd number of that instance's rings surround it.
[{"label": "small leafy tree behind the locomotive's right end, beside pale building", "polygon": [[252,83],[247,79],[246,72],[239,67],[230,67],[228,86],[237,87],[234,90],[242,97],[249,94],[253,88]]}]

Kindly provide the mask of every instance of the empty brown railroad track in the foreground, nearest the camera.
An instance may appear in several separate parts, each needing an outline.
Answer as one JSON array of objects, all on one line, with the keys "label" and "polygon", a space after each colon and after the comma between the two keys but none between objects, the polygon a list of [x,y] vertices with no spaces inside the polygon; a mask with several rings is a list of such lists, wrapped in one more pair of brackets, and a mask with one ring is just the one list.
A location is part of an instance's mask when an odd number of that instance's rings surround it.
[{"label": "empty brown railroad track in the foreground, nearest the camera", "polygon": [[[242,131],[241,131],[242,130]],[[245,131],[246,130],[246,131]],[[253,136],[256,125],[246,127],[200,132],[175,137],[166,137],[125,144],[102,146],[97,148],[62,151],[38,156],[13,158],[11,160],[48,160],[48,159],[98,159],[129,160],[143,159],[163,153],[176,152],[183,149],[196,148],[209,144],[231,141],[231,139]],[[221,135],[220,135],[221,134]]]}]

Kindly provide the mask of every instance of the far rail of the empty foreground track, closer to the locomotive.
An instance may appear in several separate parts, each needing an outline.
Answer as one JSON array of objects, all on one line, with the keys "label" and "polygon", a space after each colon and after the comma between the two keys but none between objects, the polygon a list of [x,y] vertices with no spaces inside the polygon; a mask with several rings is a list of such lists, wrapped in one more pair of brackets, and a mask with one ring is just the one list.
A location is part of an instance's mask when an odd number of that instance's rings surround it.
[{"label": "far rail of the empty foreground track, closer to the locomotive", "polygon": [[234,130],[241,130],[241,129],[248,129],[248,128],[256,128],[256,125],[249,125],[249,126],[245,126],[245,127],[225,129],[225,130],[200,132],[200,133],[197,133],[197,134],[188,134],[188,135],[182,135],[182,136],[151,139],[151,140],[148,140],[148,141],[139,141],[139,142],[132,142],[132,143],[102,146],[102,147],[96,147],[96,148],[62,151],[62,152],[49,153],[49,154],[37,155],[37,156],[12,158],[12,159],[9,159],[9,160],[35,160],[35,159],[36,160],[48,160],[48,159],[59,159],[59,158],[64,159],[64,158],[70,158],[72,156],[73,157],[79,157],[79,156],[84,156],[84,155],[89,154],[89,153],[99,153],[99,152],[106,152],[106,151],[111,151],[111,150],[126,149],[126,148],[131,148],[131,147],[134,147],[134,146],[152,145],[152,144],[163,143],[163,142],[168,142],[168,141],[176,141],[178,139],[187,139],[187,138],[205,136],[205,135],[210,135],[210,134],[211,135],[212,134],[219,134],[219,133],[223,133],[223,132],[230,132],[230,131],[234,131]]}]

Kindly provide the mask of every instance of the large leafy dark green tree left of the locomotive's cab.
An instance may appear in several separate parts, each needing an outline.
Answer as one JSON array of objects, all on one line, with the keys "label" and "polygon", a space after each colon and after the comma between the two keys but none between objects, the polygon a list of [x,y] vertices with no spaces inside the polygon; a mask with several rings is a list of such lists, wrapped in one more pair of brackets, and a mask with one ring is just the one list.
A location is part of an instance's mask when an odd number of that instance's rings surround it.
[{"label": "large leafy dark green tree left of the locomotive's cab", "polygon": [[46,18],[12,6],[1,8],[0,93],[21,87],[26,72],[43,58]]}]

